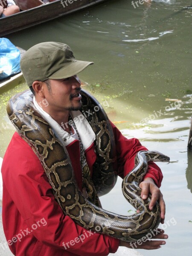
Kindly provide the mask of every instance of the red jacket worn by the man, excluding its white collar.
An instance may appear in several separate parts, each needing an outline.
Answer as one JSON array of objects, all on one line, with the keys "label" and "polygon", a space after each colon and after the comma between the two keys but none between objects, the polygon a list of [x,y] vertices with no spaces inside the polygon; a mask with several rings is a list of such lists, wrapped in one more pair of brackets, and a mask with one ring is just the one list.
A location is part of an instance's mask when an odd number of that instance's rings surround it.
[{"label": "red jacket worn by the man, excluding its white collar", "polygon": [[[140,142],[126,139],[112,124],[116,140],[118,175],[124,177],[134,166],[134,157],[145,150]],[[81,189],[82,176],[79,141],[67,146],[75,177]],[[76,154],[74,154],[76,152]],[[94,145],[86,151],[92,171],[96,160]],[[106,256],[115,253],[119,240],[93,233],[63,214],[55,201],[52,187],[32,148],[15,133],[7,148],[2,165],[3,229],[12,253],[16,256]],[[145,177],[160,186],[162,173],[150,163]]]}]

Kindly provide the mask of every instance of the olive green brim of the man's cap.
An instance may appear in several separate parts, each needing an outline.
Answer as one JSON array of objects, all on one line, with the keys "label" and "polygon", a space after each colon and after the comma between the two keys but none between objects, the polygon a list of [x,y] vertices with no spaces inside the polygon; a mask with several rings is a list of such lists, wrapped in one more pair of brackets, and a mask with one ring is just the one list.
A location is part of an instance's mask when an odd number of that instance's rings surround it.
[{"label": "olive green brim of the man's cap", "polygon": [[94,64],[94,62],[89,61],[78,61],[75,60],[73,63],[61,68],[47,79],[63,79],[70,76],[75,76],[84,70],[87,66]]}]

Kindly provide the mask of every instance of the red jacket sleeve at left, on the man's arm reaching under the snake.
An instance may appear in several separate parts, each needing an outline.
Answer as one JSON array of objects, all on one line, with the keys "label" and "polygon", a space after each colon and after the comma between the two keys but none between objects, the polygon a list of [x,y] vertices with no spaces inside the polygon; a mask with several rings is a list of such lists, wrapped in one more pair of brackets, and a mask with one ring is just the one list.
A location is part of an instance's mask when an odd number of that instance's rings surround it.
[{"label": "red jacket sleeve at left, on the man's arm reaching under the snake", "polygon": [[9,149],[3,164],[5,186],[29,229],[41,219],[47,223],[33,230],[38,241],[81,256],[116,252],[118,239],[86,230],[63,214],[40,160],[23,139],[17,137]]}]

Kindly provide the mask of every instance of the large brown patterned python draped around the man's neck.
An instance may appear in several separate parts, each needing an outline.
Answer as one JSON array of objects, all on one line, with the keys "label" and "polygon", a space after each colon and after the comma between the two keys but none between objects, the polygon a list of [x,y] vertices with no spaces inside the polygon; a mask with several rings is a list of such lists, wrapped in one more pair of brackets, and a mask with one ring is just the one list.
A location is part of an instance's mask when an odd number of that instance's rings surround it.
[{"label": "large brown patterned python draped around the man's neck", "polygon": [[[81,112],[90,110],[87,121],[96,134],[96,163],[93,182],[98,195],[109,192],[116,183],[116,156],[113,131],[102,106],[93,96],[81,90]],[[76,185],[73,167],[62,141],[54,129],[36,111],[33,95],[27,90],[9,100],[7,113],[20,136],[39,157],[63,212],[80,226],[124,241],[142,238],[160,223],[160,205],[149,210],[150,196],[141,198],[139,183],[148,169],[148,161],[169,161],[169,157],[157,151],[140,151],[135,157],[134,169],[123,179],[122,192],[139,213],[130,216],[108,212],[84,198]],[[94,107],[99,106],[99,111]],[[95,112],[95,113],[93,113]]]}]

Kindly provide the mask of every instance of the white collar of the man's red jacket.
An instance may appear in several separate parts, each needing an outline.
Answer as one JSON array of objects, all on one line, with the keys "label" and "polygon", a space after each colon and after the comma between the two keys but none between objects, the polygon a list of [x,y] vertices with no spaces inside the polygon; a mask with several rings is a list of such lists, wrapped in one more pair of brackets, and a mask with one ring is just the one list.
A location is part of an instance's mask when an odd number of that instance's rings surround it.
[{"label": "white collar of the man's red jacket", "polygon": [[[33,103],[35,105],[36,110],[41,114],[41,116],[49,123],[49,125],[56,131],[58,136],[63,141],[64,145],[67,146],[70,143],[72,143],[75,138],[70,136],[70,134],[67,131],[64,131],[63,128],[56,122],[52,117],[45,112],[36,102],[35,97],[33,97]],[[89,122],[84,117],[84,115],[78,110],[78,111],[70,111],[70,115],[75,122],[77,131],[79,133],[79,136],[81,138],[81,142],[83,144],[84,150],[90,147],[90,145],[93,143],[93,141],[96,139],[95,133],[93,129],[91,128]],[[76,118],[76,119],[75,119]]]}]

